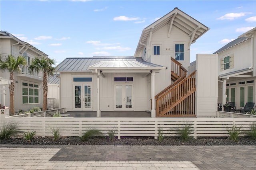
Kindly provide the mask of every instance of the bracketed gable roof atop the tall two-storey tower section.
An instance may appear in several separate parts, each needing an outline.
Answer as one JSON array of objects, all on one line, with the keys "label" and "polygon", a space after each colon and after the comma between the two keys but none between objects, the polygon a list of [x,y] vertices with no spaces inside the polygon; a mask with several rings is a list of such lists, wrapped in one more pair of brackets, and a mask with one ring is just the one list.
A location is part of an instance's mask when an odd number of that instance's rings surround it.
[{"label": "bracketed gable roof atop the tall two-storey tower section", "polygon": [[143,44],[147,43],[150,34],[154,33],[155,31],[167,24],[168,34],[170,34],[173,26],[178,27],[184,33],[188,34],[188,36],[191,38],[190,44],[194,43],[196,39],[201,37],[204,33],[206,33],[206,31],[209,30],[208,27],[176,7],[174,8],[174,10],[143,29],[134,57],[140,57],[140,52],[142,51],[142,49],[145,48],[145,45]]}]

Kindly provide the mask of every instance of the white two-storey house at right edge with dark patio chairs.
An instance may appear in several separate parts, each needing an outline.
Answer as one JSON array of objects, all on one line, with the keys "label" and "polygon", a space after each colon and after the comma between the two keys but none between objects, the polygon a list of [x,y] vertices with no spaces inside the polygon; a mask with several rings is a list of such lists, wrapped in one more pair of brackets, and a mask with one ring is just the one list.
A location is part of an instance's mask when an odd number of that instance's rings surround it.
[{"label": "white two-storey house at right edge with dark patio chairs", "polygon": [[218,103],[235,102],[236,109],[256,99],[256,27],[220,48]]}]

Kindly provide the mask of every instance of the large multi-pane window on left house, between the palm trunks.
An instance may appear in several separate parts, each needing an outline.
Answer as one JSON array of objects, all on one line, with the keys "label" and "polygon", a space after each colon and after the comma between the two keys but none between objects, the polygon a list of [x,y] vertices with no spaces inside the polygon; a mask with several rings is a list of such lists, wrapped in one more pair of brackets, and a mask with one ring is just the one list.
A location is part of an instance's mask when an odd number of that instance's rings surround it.
[{"label": "large multi-pane window on left house, between the palm trunks", "polygon": [[22,82],[22,104],[39,103],[39,85]]}]

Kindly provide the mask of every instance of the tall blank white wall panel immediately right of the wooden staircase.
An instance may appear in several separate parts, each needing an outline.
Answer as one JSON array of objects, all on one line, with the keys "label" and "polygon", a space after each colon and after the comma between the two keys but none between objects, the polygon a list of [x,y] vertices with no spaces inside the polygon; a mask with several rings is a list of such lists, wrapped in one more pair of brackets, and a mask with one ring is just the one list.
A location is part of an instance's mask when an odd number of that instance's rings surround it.
[{"label": "tall blank white wall panel immediately right of the wooden staircase", "polygon": [[196,55],[196,115],[216,116],[218,100],[218,55]]}]

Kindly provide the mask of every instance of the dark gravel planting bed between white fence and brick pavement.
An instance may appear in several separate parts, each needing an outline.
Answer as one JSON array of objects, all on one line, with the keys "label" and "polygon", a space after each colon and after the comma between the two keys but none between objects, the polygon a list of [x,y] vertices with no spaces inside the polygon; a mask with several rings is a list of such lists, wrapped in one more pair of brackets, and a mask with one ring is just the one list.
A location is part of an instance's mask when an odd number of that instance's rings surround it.
[{"label": "dark gravel planting bed between white fence and brick pavement", "polygon": [[178,137],[165,137],[162,142],[154,137],[121,137],[110,141],[108,137],[95,137],[82,141],[79,137],[60,137],[54,141],[53,137],[33,137],[26,141],[22,136],[2,140],[0,144],[11,145],[256,145],[256,140],[249,137],[240,137],[237,142],[228,137],[197,137],[184,142]]}]

